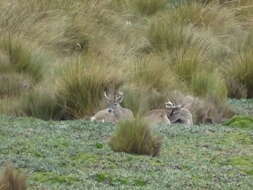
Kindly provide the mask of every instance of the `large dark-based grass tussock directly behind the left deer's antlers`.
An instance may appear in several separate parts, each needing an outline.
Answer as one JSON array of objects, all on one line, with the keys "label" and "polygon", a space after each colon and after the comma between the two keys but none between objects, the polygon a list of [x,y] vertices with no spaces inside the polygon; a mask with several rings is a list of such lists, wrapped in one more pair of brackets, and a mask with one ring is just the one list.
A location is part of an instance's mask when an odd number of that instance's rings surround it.
[{"label": "large dark-based grass tussock directly behind the left deer's antlers", "polygon": [[89,61],[79,60],[66,65],[57,81],[57,102],[74,118],[94,113],[101,106],[103,91],[117,89],[122,83],[116,68]]}]

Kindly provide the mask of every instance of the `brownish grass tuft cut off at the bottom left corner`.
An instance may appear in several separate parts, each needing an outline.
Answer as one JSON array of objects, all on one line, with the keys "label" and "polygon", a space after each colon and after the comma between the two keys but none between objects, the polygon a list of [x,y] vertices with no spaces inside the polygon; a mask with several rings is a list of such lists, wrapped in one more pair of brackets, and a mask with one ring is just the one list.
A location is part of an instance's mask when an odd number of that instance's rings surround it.
[{"label": "brownish grass tuft cut off at the bottom left corner", "polygon": [[7,165],[0,177],[0,190],[26,190],[26,177]]}]

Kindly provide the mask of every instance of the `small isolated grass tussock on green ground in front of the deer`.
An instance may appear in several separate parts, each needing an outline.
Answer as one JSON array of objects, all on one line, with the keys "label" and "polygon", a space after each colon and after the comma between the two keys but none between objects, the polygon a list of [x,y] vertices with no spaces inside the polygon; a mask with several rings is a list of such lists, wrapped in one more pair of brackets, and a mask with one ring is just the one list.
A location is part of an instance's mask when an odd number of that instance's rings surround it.
[{"label": "small isolated grass tussock on green ground in front of the deer", "polygon": [[150,156],[158,156],[161,145],[162,138],[152,134],[152,130],[141,119],[119,123],[109,141],[109,146],[115,152]]}]

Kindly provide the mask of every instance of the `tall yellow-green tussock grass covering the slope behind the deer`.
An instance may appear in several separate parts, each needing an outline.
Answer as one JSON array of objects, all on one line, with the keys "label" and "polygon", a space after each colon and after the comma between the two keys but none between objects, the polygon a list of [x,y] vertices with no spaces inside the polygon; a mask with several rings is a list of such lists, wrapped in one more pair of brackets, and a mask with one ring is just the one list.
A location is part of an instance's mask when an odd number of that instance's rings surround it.
[{"label": "tall yellow-green tussock grass covering the slope behind the deer", "polygon": [[226,118],[228,97],[252,97],[251,10],[249,0],[2,2],[0,113],[87,118],[103,90],[122,88],[136,115],[179,90]]}]

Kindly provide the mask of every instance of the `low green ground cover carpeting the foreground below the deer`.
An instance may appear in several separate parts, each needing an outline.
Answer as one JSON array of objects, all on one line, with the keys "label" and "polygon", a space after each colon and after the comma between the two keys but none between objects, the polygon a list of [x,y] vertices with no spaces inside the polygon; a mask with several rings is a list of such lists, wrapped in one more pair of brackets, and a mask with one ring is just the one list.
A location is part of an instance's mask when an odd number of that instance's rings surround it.
[{"label": "low green ground cover carpeting the foreground below the deer", "polygon": [[115,127],[0,116],[0,164],[12,161],[31,189],[251,189],[252,129],[157,128],[159,157],[115,153]]}]

